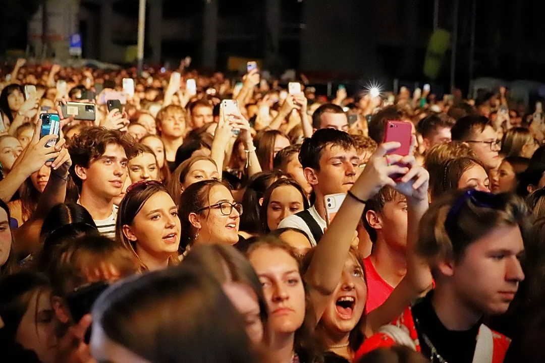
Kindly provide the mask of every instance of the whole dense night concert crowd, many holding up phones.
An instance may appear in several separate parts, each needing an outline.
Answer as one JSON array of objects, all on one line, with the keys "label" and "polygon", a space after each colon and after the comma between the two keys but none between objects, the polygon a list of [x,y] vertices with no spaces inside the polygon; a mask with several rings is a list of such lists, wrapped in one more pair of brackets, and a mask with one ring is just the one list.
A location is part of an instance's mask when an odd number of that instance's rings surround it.
[{"label": "whole dense night concert crowd, many holding up phones", "polygon": [[0,361],[540,360],[541,103],[22,59],[0,90]]}]

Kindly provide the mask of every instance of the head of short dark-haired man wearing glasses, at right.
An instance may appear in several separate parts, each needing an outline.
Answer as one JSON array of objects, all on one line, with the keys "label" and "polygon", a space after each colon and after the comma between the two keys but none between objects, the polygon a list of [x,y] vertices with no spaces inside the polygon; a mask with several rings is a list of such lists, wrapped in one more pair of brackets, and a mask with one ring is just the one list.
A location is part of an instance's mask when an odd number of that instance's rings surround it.
[{"label": "head of short dark-haired man wearing glasses, at right", "polygon": [[465,116],[456,121],[450,132],[452,140],[462,141],[471,147],[488,171],[499,167],[501,140],[485,116]]}]

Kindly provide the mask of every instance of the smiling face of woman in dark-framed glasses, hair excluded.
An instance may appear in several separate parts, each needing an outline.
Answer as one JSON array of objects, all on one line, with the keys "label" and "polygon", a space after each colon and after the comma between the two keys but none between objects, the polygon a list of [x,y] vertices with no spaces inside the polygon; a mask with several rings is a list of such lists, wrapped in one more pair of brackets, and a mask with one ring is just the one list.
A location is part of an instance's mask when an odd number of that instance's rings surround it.
[{"label": "smiling face of woman in dark-framed glasses, hair excluded", "polygon": [[[220,202],[234,204],[233,195],[225,186],[216,185],[210,189],[208,204],[214,206],[195,214],[193,226],[199,230],[199,236],[195,243],[224,243],[235,244],[239,240],[238,230],[240,224],[240,213],[232,208],[231,213],[226,216],[222,213]],[[190,217],[193,215],[190,214]]]}]

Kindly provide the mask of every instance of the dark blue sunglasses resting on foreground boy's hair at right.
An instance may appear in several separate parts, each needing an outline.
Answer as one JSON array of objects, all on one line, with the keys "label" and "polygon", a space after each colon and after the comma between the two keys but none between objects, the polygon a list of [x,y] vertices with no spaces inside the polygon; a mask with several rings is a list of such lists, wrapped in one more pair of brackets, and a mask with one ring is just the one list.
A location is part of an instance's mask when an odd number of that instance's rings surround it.
[{"label": "dark blue sunglasses resting on foreground boy's hair at right", "polygon": [[468,189],[466,190],[450,207],[450,211],[445,218],[445,231],[449,238],[456,236],[458,217],[462,211],[463,206],[467,201],[480,208],[500,209],[504,208],[507,199],[505,194],[493,194],[487,192],[481,192],[480,190]]}]

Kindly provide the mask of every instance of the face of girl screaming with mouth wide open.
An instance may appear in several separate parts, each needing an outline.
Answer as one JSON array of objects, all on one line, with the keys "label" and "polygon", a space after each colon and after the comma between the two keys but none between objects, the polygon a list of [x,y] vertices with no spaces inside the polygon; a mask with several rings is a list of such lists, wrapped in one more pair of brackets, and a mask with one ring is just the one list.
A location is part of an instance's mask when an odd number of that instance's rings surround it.
[{"label": "face of girl screaming with mouth wide open", "polygon": [[364,270],[350,254],[344,262],[341,280],[331,296],[320,323],[326,332],[348,334],[364,313],[367,285]]}]

